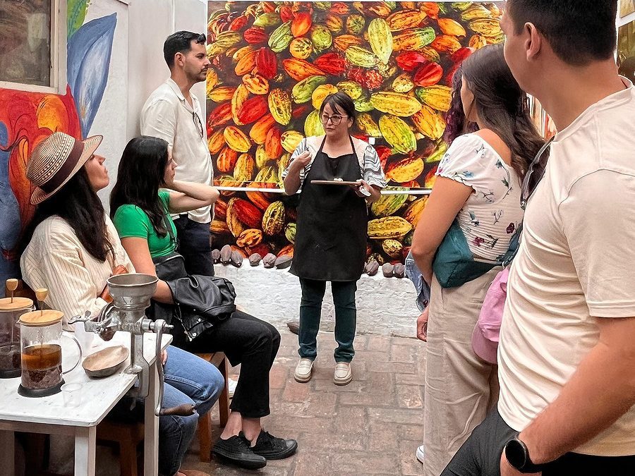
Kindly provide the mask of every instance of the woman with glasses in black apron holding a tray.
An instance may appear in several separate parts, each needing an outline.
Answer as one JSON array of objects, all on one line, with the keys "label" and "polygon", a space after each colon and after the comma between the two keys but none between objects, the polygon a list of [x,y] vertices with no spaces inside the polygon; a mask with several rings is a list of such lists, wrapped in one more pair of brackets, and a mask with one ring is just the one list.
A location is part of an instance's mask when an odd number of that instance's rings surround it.
[{"label": "woman with glasses in black apron holding a tray", "polygon": [[[284,189],[292,195],[302,187],[294,262],[291,273],[300,278],[302,301],[298,341],[300,362],[294,378],[308,382],[317,356],[322,298],[331,281],[335,305],[334,383],[351,382],[351,360],[357,314],[355,292],[366,256],[367,205],[380,198],[385,177],[375,149],[353,139],[349,129],[356,118],[351,98],[337,92],[320,108],[326,135],[301,142],[284,171]],[[319,185],[312,181],[349,181],[357,185]]]}]

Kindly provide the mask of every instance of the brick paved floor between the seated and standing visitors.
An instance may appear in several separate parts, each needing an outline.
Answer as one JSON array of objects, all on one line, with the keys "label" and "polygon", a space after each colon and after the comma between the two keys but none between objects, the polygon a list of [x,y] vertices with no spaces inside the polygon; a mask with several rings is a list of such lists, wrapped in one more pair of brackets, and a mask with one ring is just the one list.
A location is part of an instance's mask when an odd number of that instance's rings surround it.
[{"label": "brick paved floor between the seated and standing visitors", "polygon": [[[249,472],[200,463],[195,439],[183,468],[214,475],[419,475],[417,446],[423,441],[423,350],[415,339],[357,336],[353,382],[333,384],[331,333],[320,333],[313,379],[293,378],[298,359],[297,336],[281,331],[282,345],[271,373],[272,415],[263,420],[277,437],[298,440],[291,458],[267,462]],[[218,410],[212,410],[215,440]]]}]

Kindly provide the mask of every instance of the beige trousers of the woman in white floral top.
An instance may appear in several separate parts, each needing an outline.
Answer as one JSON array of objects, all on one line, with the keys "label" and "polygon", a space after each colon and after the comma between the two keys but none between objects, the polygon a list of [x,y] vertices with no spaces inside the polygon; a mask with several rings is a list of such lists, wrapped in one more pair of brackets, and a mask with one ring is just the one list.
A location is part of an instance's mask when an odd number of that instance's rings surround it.
[{"label": "beige trousers of the woman in white floral top", "polygon": [[425,476],[441,474],[497,402],[497,366],[480,360],[471,340],[485,293],[501,269],[458,288],[441,288],[433,279],[425,351]]}]

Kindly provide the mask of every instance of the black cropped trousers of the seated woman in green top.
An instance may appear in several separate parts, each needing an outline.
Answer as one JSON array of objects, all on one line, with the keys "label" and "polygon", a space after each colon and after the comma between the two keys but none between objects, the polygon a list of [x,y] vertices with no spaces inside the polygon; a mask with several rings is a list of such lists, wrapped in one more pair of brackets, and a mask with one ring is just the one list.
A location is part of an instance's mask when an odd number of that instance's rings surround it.
[{"label": "black cropped trousers of the seated woman in green top", "polygon": [[221,351],[231,365],[241,364],[241,377],[229,408],[246,418],[271,413],[269,372],[279,347],[280,334],[275,327],[241,311],[183,345],[193,353]]}]

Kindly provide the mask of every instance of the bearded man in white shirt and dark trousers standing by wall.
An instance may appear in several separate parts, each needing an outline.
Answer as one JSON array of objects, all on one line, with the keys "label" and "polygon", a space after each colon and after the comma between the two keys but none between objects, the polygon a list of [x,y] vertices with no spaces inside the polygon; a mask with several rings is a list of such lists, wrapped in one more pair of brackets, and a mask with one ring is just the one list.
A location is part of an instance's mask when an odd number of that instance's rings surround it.
[{"label": "bearded man in white shirt and dark trousers standing by wall", "polygon": [[[176,179],[212,182],[212,158],[207,147],[205,119],[190,90],[205,81],[210,60],[205,35],[180,31],[163,45],[170,78],[147,98],[141,112],[141,133],[167,140],[176,161]],[[174,217],[179,252],[189,274],[214,275],[210,246],[211,207]]]}]

